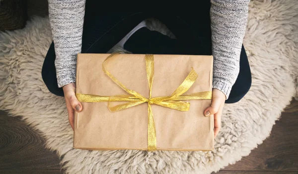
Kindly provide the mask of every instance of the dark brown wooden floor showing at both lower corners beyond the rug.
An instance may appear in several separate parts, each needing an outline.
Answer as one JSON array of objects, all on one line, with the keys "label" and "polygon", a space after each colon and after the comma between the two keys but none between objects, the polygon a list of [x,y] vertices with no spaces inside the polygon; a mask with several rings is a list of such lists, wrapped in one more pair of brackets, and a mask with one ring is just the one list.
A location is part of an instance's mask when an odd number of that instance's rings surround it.
[{"label": "dark brown wooden floor showing at both lower corners beyond the rug", "polygon": [[[0,111],[1,174],[63,173],[56,153],[46,150],[44,143],[19,117]],[[257,149],[219,174],[298,174],[298,102],[282,114]]]}]

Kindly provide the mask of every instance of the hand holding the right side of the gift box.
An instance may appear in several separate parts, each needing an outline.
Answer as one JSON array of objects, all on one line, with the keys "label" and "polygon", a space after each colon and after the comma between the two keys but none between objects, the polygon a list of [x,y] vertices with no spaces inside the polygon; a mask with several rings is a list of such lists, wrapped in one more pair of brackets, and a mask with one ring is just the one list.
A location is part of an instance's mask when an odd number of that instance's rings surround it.
[{"label": "hand holding the right side of the gift box", "polygon": [[222,113],[225,102],[225,94],[217,89],[212,89],[212,103],[211,106],[208,107],[204,111],[205,116],[214,115],[214,137],[216,137],[221,129],[222,124]]}]

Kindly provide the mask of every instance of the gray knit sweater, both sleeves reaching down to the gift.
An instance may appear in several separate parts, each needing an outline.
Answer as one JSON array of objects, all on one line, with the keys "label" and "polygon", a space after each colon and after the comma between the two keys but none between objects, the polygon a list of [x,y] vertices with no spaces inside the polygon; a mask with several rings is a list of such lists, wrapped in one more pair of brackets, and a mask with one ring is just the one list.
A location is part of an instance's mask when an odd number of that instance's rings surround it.
[{"label": "gray knit sweater, both sleeves reaching down to the gift", "polygon": [[[48,1],[58,87],[62,87],[75,82],[76,56],[81,52],[85,0]],[[211,0],[213,88],[223,91],[226,99],[239,73],[249,1]]]}]

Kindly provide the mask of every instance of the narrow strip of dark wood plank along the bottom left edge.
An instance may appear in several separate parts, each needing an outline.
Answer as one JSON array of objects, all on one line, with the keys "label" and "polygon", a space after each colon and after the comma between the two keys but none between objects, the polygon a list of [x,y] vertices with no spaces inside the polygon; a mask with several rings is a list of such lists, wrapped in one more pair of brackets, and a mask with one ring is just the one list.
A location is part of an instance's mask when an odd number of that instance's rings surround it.
[{"label": "narrow strip of dark wood plank along the bottom left edge", "polygon": [[0,169],[0,174],[63,174],[58,169]]}]

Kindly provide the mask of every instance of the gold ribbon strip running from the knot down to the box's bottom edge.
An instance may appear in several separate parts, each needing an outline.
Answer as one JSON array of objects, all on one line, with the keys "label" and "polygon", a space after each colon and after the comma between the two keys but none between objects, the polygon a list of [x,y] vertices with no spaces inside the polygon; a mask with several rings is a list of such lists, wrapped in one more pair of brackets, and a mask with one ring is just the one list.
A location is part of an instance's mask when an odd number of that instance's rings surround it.
[{"label": "gold ribbon strip running from the knot down to the box's bottom edge", "polygon": [[148,104],[148,151],[156,150],[156,130],[150,104]]}]

